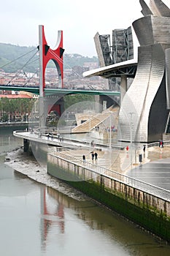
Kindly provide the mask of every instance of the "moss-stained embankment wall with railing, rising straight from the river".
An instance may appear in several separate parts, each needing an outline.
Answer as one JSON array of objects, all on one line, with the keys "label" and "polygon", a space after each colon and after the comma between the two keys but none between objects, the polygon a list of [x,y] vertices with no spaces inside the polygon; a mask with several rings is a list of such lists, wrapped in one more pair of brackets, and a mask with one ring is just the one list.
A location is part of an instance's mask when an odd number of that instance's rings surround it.
[{"label": "moss-stained embankment wall with railing, rising straight from the river", "polygon": [[47,154],[47,173],[170,242],[170,202],[82,165]]}]

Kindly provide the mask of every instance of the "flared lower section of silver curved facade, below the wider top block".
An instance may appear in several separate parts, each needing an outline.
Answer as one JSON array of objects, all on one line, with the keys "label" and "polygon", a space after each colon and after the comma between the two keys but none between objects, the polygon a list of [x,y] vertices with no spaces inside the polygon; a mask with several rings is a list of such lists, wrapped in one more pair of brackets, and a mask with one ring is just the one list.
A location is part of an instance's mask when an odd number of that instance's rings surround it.
[{"label": "flared lower section of silver curved facade, below the wider top block", "polygon": [[139,48],[136,76],[120,107],[119,140],[130,141],[131,125],[133,141],[152,142],[161,139],[168,115],[164,67],[161,44]]}]

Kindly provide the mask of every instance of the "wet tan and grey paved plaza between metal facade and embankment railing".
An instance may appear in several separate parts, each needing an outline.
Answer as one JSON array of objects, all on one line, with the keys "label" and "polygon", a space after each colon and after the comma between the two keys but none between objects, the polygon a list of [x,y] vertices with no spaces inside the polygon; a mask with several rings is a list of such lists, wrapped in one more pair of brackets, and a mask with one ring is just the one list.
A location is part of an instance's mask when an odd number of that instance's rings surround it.
[{"label": "wet tan and grey paved plaza between metal facade and embankment railing", "polygon": [[[78,159],[82,159],[82,154],[85,154],[86,161],[94,165],[116,170],[118,173],[170,190],[170,146],[147,148],[145,154],[140,150],[136,156],[135,152],[132,152],[132,157],[131,152],[125,150],[97,151],[97,161],[92,161],[90,150],[81,149],[65,153]],[[139,154],[142,154],[141,163]]]}]

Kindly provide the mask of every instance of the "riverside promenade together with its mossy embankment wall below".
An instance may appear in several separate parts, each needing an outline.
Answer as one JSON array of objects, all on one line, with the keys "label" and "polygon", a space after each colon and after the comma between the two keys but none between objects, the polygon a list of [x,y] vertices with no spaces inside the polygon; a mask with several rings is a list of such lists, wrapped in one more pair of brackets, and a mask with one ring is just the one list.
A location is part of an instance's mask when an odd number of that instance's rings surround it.
[{"label": "riverside promenade together with its mossy embankment wall below", "polygon": [[[38,153],[41,144],[43,151],[47,146],[47,174],[170,242],[169,142],[164,142],[163,148],[159,148],[158,143],[147,145],[141,154],[142,148],[136,153],[136,149],[126,151],[126,147],[112,145],[110,148],[102,144],[92,147],[90,143],[85,145],[86,142],[54,135],[50,138],[49,134],[41,134],[40,138],[35,132],[13,134],[25,143],[33,142]],[[92,152],[98,154],[98,159],[91,159]],[[136,154],[140,155],[140,162]],[[161,160],[159,169],[155,168],[158,165],[154,165],[155,161]],[[150,164],[153,166],[145,168]],[[161,187],[152,183],[155,178]],[[163,183],[167,187],[163,188]]]}]

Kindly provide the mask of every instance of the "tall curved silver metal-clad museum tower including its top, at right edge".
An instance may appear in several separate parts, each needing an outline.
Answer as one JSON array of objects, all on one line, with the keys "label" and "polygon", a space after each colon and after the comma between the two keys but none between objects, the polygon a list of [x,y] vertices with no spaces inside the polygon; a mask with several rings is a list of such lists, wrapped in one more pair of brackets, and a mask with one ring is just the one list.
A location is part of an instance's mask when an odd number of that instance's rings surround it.
[{"label": "tall curved silver metal-clad museum tower including its top, at right edge", "polygon": [[[149,7],[140,2],[148,13]],[[165,50],[170,48],[170,18],[161,1],[150,2],[154,7],[150,12],[163,13],[163,9],[166,17],[146,15],[133,23],[140,47],[136,76],[120,107],[119,139],[125,141],[160,140],[168,116]]]}]

